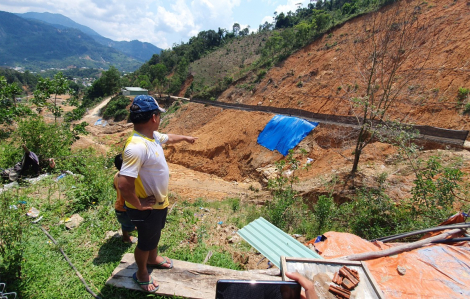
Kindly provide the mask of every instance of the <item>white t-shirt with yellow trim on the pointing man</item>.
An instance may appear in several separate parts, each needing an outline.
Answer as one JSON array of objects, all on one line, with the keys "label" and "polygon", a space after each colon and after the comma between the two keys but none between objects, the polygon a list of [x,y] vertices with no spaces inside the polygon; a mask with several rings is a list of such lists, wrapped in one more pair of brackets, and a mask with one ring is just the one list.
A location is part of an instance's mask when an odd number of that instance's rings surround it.
[{"label": "white t-shirt with yellow trim on the pointing man", "polygon": [[[168,182],[170,172],[163,153],[162,144],[168,141],[168,135],[153,132],[150,139],[136,131],[126,141],[122,154],[120,174],[136,178],[135,193],[139,198],[155,196],[154,209],[168,207]],[[134,208],[126,201],[126,206]]]}]

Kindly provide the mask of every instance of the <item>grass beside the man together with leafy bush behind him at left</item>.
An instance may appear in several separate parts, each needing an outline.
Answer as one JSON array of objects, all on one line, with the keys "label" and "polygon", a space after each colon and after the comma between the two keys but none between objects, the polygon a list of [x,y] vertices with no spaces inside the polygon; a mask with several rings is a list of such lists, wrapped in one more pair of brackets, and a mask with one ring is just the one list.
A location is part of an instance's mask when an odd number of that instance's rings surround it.
[{"label": "grass beside the man together with leafy bush behind him at left", "polygon": [[[25,185],[0,195],[2,207],[7,206],[0,212],[0,236],[2,240],[15,241],[0,249],[0,266],[8,270],[0,272],[1,281],[7,283],[8,290],[18,292],[22,298],[35,296],[38,289],[48,298],[87,296],[84,286],[58,247],[39,229],[41,225],[58,241],[85,281],[102,298],[146,298],[147,294],[141,292],[105,286],[122,255],[132,253],[135,246],[122,243],[120,238],[105,239],[106,232],[119,229],[114,215],[112,177],[115,170],[112,159],[86,150],[64,160],[58,171],[67,169],[74,173],[73,176],[67,175],[56,181],[53,179],[57,176],[55,174],[37,184]],[[173,197],[172,201],[175,200]],[[229,212],[231,208],[228,204],[234,200],[222,203],[202,199],[194,203],[177,200],[177,206],[168,215],[167,227],[162,234],[161,254],[202,263],[211,250],[214,254],[209,265],[241,270],[242,267],[233,261],[230,252],[205,241],[217,223],[215,220],[207,222],[201,215],[201,207],[204,207],[218,211],[220,216],[232,214],[236,217],[237,214]],[[18,205],[18,201],[26,203]],[[19,210],[10,212],[8,205],[11,204],[16,204]],[[30,207],[41,211],[43,219],[39,224],[31,224],[31,220],[24,216],[24,211]],[[246,208],[239,206],[237,209],[242,213]],[[78,228],[69,231],[64,224],[59,224],[60,220],[71,217],[75,212],[84,218]],[[223,221],[226,222],[225,219]],[[196,238],[190,241],[193,232]],[[14,272],[15,269],[20,272]],[[60,287],[64,285],[68,287]]]}]

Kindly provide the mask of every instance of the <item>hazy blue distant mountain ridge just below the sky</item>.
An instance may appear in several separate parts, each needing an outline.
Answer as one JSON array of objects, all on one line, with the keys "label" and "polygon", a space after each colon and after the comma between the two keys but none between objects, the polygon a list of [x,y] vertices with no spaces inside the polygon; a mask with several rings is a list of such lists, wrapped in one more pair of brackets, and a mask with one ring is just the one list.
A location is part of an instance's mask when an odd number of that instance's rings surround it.
[{"label": "hazy blue distant mountain ridge just below the sky", "polygon": [[124,54],[127,54],[130,57],[137,59],[141,62],[145,62],[149,60],[150,58],[152,58],[153,54],[160,54],[160,52],[162,51],[162,49],[150,43],[140,42],[138,40],[133,40],[130,42],[114,41],[112,39],[101,36],[93,29],[87,26],[78,24],[61,14],[53,14],[49,12],[44,12],[44,13],[27,12],[27,13],[22,13],[22,14],[17,13],[16,15],[25,19],[34,19],[34,20],[43,21],[59,29],[64,29],[64,28],[78,29],[82,31],[83,33],[92,37],[98,43],[117,49],[123,52]]}]

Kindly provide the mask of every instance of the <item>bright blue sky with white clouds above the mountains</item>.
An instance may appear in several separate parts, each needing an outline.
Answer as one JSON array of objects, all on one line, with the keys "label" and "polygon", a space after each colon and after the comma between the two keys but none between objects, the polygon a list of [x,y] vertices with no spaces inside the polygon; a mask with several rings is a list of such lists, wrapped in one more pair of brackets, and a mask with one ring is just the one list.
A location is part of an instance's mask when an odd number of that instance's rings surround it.
[{"label": "bright blue sky with white clouds above the mountains", "polygon": [[[295,11],[310,0],[0,0],[12,13],[62,14],[115,41],[139,40],[168,49],[203,30],[232,30],[273,22],[274,12]],[[313,1],[314,2],[314,1]]]}]

